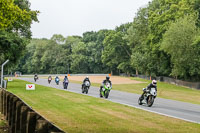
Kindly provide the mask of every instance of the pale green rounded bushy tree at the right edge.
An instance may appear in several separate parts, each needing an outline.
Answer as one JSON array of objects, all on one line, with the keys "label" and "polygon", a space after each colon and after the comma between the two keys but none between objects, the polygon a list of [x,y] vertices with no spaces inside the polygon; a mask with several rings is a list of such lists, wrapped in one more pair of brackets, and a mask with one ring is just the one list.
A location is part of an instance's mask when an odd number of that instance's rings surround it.
[{"label": "pale green rounded bushy tree at the right edge", "polygon": [[[199,73],[199,29],[196,16],[185,16],[172,23],[164,34],[161,48],[171,56],[172,76],[187,79]],[[195,41],[195,43],[194,43]],[[195,73],[196,72],[196,73]]]}]

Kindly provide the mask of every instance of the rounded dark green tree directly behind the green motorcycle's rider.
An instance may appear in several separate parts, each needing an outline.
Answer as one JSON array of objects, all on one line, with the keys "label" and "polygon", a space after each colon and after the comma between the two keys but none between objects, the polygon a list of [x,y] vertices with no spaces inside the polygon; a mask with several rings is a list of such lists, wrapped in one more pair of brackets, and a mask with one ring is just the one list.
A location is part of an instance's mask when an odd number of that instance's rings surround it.
[{"label": "rounded dark green tree directly behind the green motorcycle's rider", "polygon": [[116,68],[128,72],[126,62],[130,59],[130,49],[121,32],[110,31],[104,39],[104,51],[102,53],[102,62],[116,72]]}]

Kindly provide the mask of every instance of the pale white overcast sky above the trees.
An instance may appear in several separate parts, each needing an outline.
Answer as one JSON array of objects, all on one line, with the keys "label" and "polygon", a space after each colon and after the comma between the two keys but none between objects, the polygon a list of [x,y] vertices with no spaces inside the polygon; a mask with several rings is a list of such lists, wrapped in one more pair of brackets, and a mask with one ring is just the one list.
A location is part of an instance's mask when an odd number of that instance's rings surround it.
[{"label": "pale white overcast sky above the trees", "polygon": [[33,23],[33,38],[82,35],[86,31],[114,29],[132,22],[140,7],[151,0],[29,0],[39,10],[39,23]]}]

